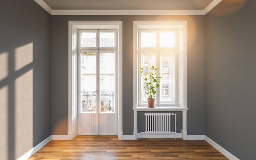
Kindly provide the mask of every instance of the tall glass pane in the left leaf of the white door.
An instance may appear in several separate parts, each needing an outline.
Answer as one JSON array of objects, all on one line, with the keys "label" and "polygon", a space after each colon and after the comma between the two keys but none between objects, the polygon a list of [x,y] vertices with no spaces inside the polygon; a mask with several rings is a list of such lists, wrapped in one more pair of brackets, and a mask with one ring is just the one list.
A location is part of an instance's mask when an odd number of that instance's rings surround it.
[{"label": "tall glass pane in the left leaf of the white door", "polygon": [[81,112],[96,112],[96,52],[83,52],[81,61]]}]

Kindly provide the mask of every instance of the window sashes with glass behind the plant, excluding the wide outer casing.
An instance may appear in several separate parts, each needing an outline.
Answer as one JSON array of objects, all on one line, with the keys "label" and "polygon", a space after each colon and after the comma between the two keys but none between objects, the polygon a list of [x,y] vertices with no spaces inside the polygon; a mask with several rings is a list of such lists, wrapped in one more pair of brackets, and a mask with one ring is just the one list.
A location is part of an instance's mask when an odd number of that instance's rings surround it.
[{"label": "window sashes with glass behind the plant, excluding the wide outer casing", "polygon": [[[149,68],[154,66],[160,69],[160,75],[158,76],[162,77],[160,82],[162,92],[157,88],[155,100],[158,106],[177,105],[178,49],[175,45],[177,43],[177,36],[175,35],[177,35],[177,29],[139,29],[139,68],[148,71]],[[138,73],[138,76],[141,77],[141,73]],[[169,85],[163,85],[163,82]],[[139,79],[139,84],[141,86],[139,104],[144,105],[147,104],[147,95],[144,91],[144,79],[142,77]]]}]

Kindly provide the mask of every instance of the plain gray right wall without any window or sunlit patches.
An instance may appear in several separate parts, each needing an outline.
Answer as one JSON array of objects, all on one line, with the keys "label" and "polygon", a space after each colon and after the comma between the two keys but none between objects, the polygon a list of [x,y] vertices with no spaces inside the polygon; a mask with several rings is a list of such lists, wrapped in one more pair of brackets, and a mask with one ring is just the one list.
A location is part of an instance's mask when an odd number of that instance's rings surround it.
[{"label": "plain gray right wall without any window or sunlit patches", "polygon": [[223,0],[205,18],[205,133],[240,160],[255,160],[256,1],[241,2]]}]

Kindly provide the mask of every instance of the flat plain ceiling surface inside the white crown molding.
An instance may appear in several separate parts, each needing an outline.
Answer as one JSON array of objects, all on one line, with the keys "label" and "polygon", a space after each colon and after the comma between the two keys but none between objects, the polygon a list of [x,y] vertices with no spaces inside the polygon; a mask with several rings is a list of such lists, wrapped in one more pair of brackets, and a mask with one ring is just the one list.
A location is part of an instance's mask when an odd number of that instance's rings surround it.
[{"label": "flat plain ceiling surface inside the white crown molding", "polygon": [[43,0],[52,9],[205,9],[213,0]]}]

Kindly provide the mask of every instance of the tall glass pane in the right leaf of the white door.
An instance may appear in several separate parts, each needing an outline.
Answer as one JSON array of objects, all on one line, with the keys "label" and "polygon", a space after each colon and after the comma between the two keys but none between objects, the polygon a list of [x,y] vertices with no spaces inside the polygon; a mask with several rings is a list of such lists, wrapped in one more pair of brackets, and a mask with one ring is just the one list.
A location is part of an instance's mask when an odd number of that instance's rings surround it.
[{"label": "tall glass pane in the right leaf of the white door", "polygon": [[100,52],[100,112],[115,112],[115,52]]}]

